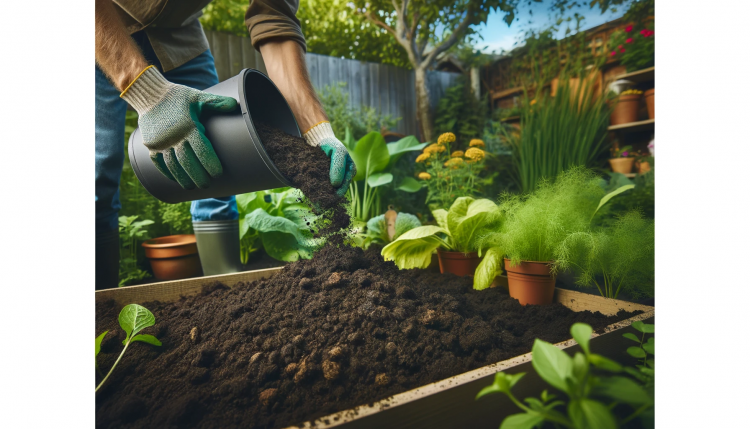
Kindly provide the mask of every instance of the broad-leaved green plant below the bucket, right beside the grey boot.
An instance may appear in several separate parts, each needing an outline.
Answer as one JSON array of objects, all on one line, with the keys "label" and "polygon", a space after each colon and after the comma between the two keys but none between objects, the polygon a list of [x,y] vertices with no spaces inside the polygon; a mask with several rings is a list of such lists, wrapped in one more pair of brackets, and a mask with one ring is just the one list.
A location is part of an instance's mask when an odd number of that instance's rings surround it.
[{"label": "broad-leaved green plant below the bucket, right beside the grey boot", "polygon": [[269,256],[280,261],[312,258],[321,244],[311,231],[318,218],[302,201],[300,191],[293,188],[237,195],[243,264],[258,249],[258,241]]}]

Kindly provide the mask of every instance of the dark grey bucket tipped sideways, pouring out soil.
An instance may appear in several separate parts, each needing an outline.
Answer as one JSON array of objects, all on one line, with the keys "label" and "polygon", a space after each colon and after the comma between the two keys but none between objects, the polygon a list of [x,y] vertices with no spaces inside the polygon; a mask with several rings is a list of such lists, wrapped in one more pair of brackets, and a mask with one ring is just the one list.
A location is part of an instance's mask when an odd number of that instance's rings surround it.
[{"label": "dark grey bucket tipped sideways, pouring out soil", "polygon": [[143,145],[140,129],[136,129],[130,135],[128,155],[143,187],[161,201],[180,203],[292,186],[268,157],[255,130],[255,122],[263,122],[301,137],[292,110],[276,85],[258,70],[244,69],[205,91],[232,97],[240,105],[232,113],[206,111],[200,118],[224,173],[211,179],[206,189],[183,189],[156,169]]}]

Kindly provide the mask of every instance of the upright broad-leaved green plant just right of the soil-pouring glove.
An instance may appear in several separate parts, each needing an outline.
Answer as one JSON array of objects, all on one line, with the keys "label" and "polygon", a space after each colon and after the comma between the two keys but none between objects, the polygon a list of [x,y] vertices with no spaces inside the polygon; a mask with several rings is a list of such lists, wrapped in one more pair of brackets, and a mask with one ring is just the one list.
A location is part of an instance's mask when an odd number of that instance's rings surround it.
[{"label": "upright broad-leaved green plant just right of the soil-pouring glove", "polygon": [[[390,170],[407,152],[421,150],[427,143],[419,143],[414,136],[404,137],[395,143],[386,143],[378,132],[371,132],[359,141],[354,141],[347,129],[343,141],[357,166],[357,175],[349,185],[349,197],[352,201],[352,216],[366,222],[377,213],[382,213],[379,188],[393,182]],[[417,192],[422,188],[413,177],[406,177],[396,185],[404,192]]]}]

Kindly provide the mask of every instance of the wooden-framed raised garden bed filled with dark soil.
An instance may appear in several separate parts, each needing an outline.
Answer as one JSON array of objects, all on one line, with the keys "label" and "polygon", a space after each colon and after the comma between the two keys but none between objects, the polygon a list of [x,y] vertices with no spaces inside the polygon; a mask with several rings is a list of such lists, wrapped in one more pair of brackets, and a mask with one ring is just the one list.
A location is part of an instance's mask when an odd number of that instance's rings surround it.
[{"label": "wooden-framed raised garden bed filled with dark soil", "polygon": [[121,350],[125,304],[148,307],[163,342],[123,358],[97,394],[97,426],[370,427],[379,413],[528,362],[534,338],[574,345],[575,321],[601,334],[653,316],[565,290],[551,306],[522,307],[471,284],[329,247],[283,268],[97,291],[96,333],[111,331],[100,367]]}]

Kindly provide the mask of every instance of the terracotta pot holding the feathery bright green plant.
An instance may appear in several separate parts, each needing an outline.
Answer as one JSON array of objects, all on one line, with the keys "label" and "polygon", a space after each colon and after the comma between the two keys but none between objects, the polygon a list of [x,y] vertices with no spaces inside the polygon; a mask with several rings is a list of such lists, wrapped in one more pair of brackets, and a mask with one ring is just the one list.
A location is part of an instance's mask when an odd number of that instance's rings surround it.
[{"label": "terracotta pot holding the feathery bright green plant", "polygon": [[505,259],[508,273],[508,293],[521,305],[546,305],[555,295],[555,277],[550,274],[548,262],[521,261],[515,267]]}]

